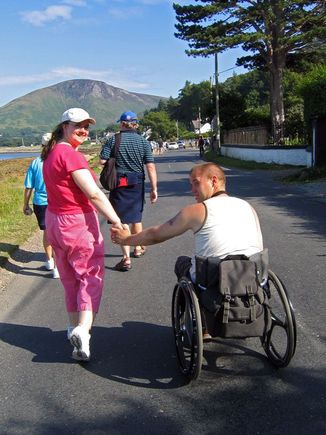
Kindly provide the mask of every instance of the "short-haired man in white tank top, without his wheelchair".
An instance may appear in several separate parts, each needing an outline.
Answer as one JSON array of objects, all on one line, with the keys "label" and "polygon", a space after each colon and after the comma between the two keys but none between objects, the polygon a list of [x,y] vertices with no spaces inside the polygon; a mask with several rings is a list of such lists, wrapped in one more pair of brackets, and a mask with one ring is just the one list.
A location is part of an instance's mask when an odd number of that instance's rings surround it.
[{"label": "short-haired man in white tank top, without his wheelchair", "polygon": [[184,207],[164,224],[138,234],[112,228],[111,237],[114,243],[147,246],[192,231],[194,254],[179,257],[175,273],[179,279],[189,272],[192,281],[196,282],[195,257],[250,257],[263,250],[263,239],[255,210],[248,202],[226,193],[225,174],[220,166],[215,163],[194,166],[189,180],[197,204]]}]

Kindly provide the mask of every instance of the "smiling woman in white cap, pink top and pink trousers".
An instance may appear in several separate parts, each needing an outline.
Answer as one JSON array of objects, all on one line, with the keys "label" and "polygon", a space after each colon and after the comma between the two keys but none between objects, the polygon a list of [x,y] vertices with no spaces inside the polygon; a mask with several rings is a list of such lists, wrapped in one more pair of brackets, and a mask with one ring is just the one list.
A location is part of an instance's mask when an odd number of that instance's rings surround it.
[{"label": "smiling woman in white cap, pink top and pink trousers", "polygon": [[90,124],[95,120],[85,110],[66,110],[41,156],[48,194],[46,228],[65,289],[72,357],[79,361],[90,358],[90,330],[103,289],[104,242],[97,211],[113,226],[121,227],[96,184],[95,174],[78,151],[88,137]]}]

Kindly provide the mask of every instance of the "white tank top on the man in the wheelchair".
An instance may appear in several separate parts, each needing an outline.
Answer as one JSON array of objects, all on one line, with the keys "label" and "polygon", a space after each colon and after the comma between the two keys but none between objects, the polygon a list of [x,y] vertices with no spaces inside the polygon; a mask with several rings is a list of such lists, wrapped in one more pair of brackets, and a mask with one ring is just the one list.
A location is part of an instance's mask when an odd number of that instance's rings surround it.
[{"label": "white tank top on the man in the wheelchair", "polygon": [[[195,255],[224,258],[250,256],[263,250],[259,221],[250,204],[231,196],[216,196],[204,201],[206,219],[195,236]],[[195,277],[192,259],[191,276]]]}]

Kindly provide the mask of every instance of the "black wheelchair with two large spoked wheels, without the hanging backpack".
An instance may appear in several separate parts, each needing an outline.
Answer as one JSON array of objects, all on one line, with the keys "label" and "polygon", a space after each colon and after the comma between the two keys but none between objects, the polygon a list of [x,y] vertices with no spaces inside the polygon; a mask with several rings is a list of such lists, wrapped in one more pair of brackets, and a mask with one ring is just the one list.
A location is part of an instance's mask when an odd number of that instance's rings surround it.
[{"label": "black wheelchair with two large spoked wheels, without the hanging backpack", "polygon": [[[264,320],[266,321],[264,331],[249,337],[260,338],[267,358],[275,367],[286,367],[296,349],[294,310],[285,285],[272,270],[268,269],[268,265],[261,265],[258,262],[256,269],[257,274],[260,273],[259,287],[267,300],[268,316]],[[234,337],[232,334],[226,336],[223,333],[221,316],[218,318],[216,313],[212,314],[202,306],[199,301],[200,293],[198,284],[194,284],[189,277],[183,276],[175,285],[172,297],[172,326],[177,359],[181,372],[188,380],[198,378],[201,372],[203,326],[212,338],[247,338],[245,330],[240,336],[239,334]]]}]

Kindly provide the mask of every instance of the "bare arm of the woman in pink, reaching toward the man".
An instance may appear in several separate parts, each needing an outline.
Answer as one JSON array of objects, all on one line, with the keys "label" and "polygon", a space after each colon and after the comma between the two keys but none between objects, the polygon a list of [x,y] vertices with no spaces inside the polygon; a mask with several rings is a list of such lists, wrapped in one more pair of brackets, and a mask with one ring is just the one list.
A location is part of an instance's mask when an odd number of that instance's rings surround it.
[{"label": "bare arm of the woman in pink, reaching toward the man", "polygon": [[77,186],[84,192],[96,210],[113,224],[120,224],[121,221],[114,211],[110,201],[97,186],[88,169],[78,169],[72,172],[72,178]]}]

